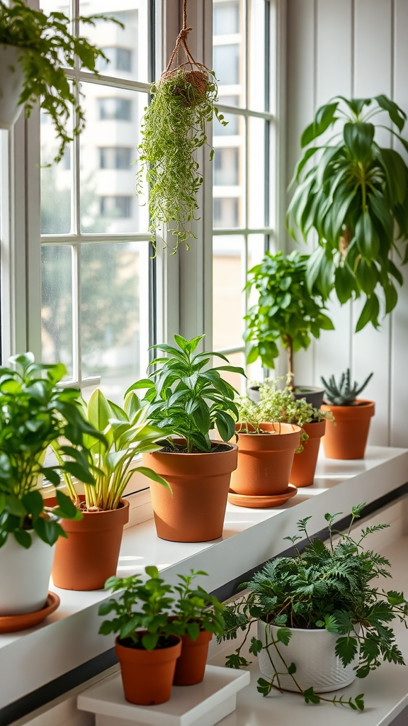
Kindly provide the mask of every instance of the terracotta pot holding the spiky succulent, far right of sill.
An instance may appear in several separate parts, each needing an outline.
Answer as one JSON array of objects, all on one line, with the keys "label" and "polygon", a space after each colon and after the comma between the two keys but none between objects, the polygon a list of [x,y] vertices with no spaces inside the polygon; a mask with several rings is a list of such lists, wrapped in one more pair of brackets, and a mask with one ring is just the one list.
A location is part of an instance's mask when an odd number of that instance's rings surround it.
[{"label": "terracotta pot holding the spiky succulent, far right of sill", "polygon": [[373,401],[356,399],[352,406],[323,404],[322,411],[332,411],[334,421],[327,421],[322,443],[327,459],[364,459]]}]

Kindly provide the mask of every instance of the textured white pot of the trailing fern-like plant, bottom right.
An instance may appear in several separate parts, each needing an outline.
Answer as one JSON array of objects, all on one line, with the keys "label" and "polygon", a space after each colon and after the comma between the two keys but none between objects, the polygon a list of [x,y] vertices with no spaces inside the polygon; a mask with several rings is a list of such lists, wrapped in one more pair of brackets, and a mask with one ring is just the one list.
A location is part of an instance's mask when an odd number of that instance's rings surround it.
[{"label": "textured white pot of the trailing fern-like plant, bottom right", "polygon": [[[266,625],[262,621],[258,621],[258,639],[266,644]],[[274,640],[278,627],[276,625],[269,626],[268,640],[272,641],[271,629]],[[359,662],[358,656],[354,658],[346,668],[343,666],[340,658],[335,655],[335,643],[338,635],[327,632],[327,630],[309,630],[301,628],[291,628],[292,637],[289,644],[278,644],[282,658],[285,658],[287,665],[294,663],[296,666],[295,679],[303,690],[314,688],[315,693],[326,693],[330,690],[338,690],[349,685],[356,678],[355,666]],[[269,645],[269,655],[278,672],[285,670],[277,651],[271,643]],[[259,667],[261,672],[268,678],[274,676],[274,669],[269,660],[266,650],[261,650],[258,654]],[[276,679],[274,685],[276,685]],[[298,690],[288,674],[280,676],[280,685],[284,690]]]}]

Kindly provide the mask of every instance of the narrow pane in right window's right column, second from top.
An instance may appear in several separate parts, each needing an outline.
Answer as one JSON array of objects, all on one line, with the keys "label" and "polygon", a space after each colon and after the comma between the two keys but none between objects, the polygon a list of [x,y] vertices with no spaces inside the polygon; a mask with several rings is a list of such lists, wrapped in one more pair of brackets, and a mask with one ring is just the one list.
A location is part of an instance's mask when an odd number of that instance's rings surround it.
[{"label": "narrow pane in right window's right column, second from top", "polygon": [[248,118],[248,227],[265,226],[265,121]]}]

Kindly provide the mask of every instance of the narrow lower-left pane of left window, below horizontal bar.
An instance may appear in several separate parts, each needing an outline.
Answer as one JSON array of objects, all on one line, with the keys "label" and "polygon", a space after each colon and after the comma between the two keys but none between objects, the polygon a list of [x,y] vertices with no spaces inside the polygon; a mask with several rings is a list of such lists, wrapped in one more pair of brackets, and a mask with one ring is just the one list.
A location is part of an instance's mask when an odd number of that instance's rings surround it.
[{"label": "narrow lower-left pane of left window, below horizontal bar", "polygon": [[72,248],[41,248],[41,344],[44,363],[64,363],[73,375]]}]

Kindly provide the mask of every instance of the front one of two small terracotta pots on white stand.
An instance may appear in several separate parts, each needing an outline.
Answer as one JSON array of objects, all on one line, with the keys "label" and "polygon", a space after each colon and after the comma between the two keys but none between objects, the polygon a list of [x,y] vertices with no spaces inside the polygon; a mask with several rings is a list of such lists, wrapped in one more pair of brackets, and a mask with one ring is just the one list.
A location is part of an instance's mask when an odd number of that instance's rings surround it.
[{"label": "front one of two small terracotta pots on white stand", "polygon": [[156,650],[126,648],[115,640],[115,653],[121,664],[126,701],[138,706],[165,703],[171,696],[176,660],[181,653],[181,638],[172,635],[174,645]]}]

